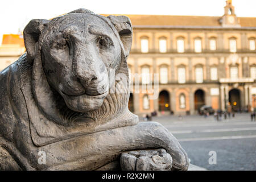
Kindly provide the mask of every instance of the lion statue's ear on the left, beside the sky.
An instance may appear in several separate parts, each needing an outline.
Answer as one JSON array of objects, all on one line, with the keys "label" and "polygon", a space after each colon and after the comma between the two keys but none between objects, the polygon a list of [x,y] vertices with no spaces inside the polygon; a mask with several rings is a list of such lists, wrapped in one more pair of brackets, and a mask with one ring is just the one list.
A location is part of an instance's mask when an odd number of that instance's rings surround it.
[{"label": "lion statue's ear on the left, beside the sky", "polygon": [[32,19],[24,28],[24,44],[29,61],[35,59],[36,51],[38,50],[39,36],[48,22],[49,20],[46,19]]}]

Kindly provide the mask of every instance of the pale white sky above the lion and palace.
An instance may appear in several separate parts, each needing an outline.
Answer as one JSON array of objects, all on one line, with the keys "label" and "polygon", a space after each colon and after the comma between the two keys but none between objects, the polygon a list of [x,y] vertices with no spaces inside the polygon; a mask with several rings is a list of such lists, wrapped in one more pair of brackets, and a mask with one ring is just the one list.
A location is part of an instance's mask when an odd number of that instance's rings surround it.
[{"label": "pale white sky above the lion and palace", "polygon": [[[18,34],[31,19],[50,19],[85,8],[97,14],[222,16],[225,0],[1,0],[2,34]],[[256,17],[256,0],[233,0],[240,17]]]}]

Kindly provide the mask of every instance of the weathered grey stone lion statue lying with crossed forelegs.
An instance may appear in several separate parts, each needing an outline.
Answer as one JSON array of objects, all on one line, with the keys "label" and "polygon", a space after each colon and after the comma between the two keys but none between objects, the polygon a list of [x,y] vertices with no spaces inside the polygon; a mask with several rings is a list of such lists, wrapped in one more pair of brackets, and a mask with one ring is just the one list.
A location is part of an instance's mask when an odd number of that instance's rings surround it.
[{"label": "weathered grey stone lion statue lying with crossed forelegs", "polygon": [[188,169],[176,138],[127,107],[129,18],[79,9],[23,35],[27,52],[0,73],[0,169]]}]

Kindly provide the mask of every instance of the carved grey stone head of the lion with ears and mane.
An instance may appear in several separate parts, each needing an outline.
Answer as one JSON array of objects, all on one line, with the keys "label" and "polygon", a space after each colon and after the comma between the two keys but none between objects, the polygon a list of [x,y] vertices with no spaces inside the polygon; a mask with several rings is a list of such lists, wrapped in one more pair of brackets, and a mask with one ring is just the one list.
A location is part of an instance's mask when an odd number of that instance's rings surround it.
[{"label": "carved grey stone head of the lion with ears and mane", "polygon": [[62,124],[72,118],[106,119],[113,110],[121,113],[129,92],[109,92],[117,86],[118,73],[128,83],[131,40],[126,16],[105,17],[79,9],[52,20],[31,20],[24,29],[24,43],[41,110]]}]

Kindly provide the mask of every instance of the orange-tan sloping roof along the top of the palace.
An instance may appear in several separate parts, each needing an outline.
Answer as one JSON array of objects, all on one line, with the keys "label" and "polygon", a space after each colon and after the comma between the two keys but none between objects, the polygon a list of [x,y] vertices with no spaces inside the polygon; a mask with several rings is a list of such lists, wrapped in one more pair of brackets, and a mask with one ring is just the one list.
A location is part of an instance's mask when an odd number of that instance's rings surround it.
[{"label": "orange-tan sloping roof along the top of the palace", "polygon": [[[107,14],[102,14],[108,16]],[[124,14],[125,15],[125,14]],[[125,15],[133,26],[216,26],[221,16]],[[242,27],[256,27],[256,18],[238,18]]]}]

